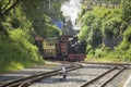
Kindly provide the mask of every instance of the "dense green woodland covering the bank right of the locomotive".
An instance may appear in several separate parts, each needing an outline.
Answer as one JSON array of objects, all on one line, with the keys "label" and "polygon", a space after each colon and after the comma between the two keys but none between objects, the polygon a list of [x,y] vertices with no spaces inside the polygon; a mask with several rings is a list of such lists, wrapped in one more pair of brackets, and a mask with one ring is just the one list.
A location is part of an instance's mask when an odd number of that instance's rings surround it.
[{"label": "dense green woodland covering the bank right of the locomotive", "polygon": [[87,61],[131,61],[131,0],[84,0],[78,24]]}]

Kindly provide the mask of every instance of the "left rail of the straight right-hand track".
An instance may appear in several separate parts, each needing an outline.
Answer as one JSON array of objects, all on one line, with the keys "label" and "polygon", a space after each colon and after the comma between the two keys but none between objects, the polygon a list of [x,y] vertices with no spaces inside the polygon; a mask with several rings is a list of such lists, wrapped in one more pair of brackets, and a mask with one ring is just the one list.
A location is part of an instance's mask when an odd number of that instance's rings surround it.
[{"label": "left rail of the straight right-hand track", "polygon": [[93,84],[94,82],[98,80],[99,78],[104,77],[106,74],[112,72],[114,70],[116,70],[118,66],[114,66],[112,69],[106,71],[105,73],[102,73],[100,75],[98,75],[97,77],[93,78],[90,82],[85,82],[84,84],[82,84],[80,87],[87,87],[88,85]]}]

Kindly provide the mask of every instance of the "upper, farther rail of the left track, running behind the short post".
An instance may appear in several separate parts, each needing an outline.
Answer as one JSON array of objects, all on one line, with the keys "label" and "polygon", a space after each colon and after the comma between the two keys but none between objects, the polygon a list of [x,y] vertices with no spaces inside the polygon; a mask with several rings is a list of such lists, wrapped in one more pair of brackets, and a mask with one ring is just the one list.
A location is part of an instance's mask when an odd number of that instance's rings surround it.
[{"label": "upper, farther rail of the left track, running behind the short post", "polygon": [[[70,67],[73,67],[73,65],[67,66],[66,69],[70,69]],[[31,79],[31,78],[34,78],[36,76],[41,76],[41,75],[46,75],[46,74],[53,73],[53,72],[59,72],[59,71],[61,71],[61,69],[55,70],[55,71],[51,71],[51,72],[45,72],[45,73],[41,73],[41,74],[36,74],[36,75],[27,76],[27,77],[20,78],[20,79],[3,82],[3,83],[0,84],[0,87],[7,87],[7,86],[9,86],[11,84],[14,84],[14,83],[24,82],[26,79]]]}]

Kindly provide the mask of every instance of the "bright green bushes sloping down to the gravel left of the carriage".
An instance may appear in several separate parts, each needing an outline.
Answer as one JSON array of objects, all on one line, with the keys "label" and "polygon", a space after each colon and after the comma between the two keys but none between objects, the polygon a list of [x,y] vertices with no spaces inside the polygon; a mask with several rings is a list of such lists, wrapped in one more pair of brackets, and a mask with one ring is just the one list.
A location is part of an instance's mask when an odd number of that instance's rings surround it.
[{"label": "bright green bushes sloping down to the gravel left of the carriage", "polygon": [[[9,72],[43,63],[38,49],[27,40],[22,29],[10,32],[10,39],[0,39],[0,72]],[[2,67],[1,67],[2,66]]]}]

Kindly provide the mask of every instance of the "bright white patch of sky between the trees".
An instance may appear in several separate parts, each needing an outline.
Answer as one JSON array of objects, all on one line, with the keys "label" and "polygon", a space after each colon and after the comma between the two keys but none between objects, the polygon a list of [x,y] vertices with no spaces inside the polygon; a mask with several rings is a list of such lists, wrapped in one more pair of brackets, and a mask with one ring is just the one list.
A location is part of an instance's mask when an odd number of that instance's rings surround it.
[{"label": "bright white patch of sky between the trees", "polygon": [[70,0],[66,2],[61,7],[61,11],[63,11],[63,15],[71,18],[73,25],[75,24],[75,18],[78,17],[78,13],[81,11],[80,0]]}]

